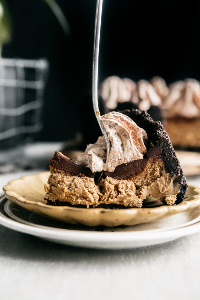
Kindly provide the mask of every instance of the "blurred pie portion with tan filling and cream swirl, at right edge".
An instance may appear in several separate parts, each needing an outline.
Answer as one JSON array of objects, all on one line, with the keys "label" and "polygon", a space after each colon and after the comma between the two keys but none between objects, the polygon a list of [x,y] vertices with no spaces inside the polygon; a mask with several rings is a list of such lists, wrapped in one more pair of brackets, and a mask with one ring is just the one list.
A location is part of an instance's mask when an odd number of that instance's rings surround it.
[{"label": "blurred pie portion with tan filling and cream swirl, at right edge", "polygon": [[169,85],[163,100],[163,125],[175,148],[200,149],[200,82],[185,79]]}]

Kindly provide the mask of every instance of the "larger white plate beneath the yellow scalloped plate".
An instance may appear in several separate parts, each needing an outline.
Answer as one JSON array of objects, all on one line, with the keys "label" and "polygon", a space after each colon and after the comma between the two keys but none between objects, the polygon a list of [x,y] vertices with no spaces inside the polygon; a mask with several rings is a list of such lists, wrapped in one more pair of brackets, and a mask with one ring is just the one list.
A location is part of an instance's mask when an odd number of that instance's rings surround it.
[{"label": "larger white plate beneath the yellow scalloped plate", "polygon": [[[104,248],[104,249],[128,249],[144,247],[154,244],[161,244],[172,241],[184,235],[197,233],[200,231],[200,206],[185,211],[176,216],[171,216],[163,220],[152,223],[139,224],[134,226],[119,227],[87,227],[84,225],[68,225],[63,222],[49,220],[45,217],[31,213],[25,208],[14,204],[10,206],[6,203],[4,196],[0,198],[0,224],[19,232],[28,233],[48,241],[57,242],[78,247]],[[21,221],[11,219],[4,211],[4,206],[15,217],[19,212],[18,218]],[[20,215],[23,209],[30,220],[25,221],[24,216]],[[18,212],[17,212],[18,211]],[[34,220],[34,217],[36,219]],[[37,219],[39,218],[39,219]],[[40,225],[40,223],[50,226]],[[50,223],[49,223],[50,222]],[[63,224],[63,227],[61,228]],[[57,228],[55,228],[57,227]],[[65,229],[63,229],[65,228]],[[66,229],[67,228],[67,229]],[[97,230],[104,230],[97,231]]]}]

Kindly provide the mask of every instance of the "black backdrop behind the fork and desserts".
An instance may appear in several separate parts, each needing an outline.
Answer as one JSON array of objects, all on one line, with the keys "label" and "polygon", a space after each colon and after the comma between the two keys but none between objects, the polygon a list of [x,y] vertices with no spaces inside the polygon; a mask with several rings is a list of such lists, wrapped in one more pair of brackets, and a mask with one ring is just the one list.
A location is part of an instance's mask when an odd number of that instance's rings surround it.
[{"label": "black backdrop behind the fork and desserts", "polygon": [[[44,128],[37,140],[69,140],[91,118],[95,0],[57,0],[70,25],[67,38],[43,0],[7,0],[12,41],[3,57],[50,62]],[[100,82],[118,75],[135,81],[162,76],[167,83],[200,79],[200,1],[104,0]],[[91,110],[92,112],[92,110]]]}]

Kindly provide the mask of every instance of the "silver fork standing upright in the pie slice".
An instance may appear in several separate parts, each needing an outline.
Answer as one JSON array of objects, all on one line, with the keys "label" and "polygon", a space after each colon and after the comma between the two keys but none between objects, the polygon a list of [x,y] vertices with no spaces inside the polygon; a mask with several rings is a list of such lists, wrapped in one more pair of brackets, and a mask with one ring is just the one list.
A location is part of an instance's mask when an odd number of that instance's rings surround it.
[{"label": "silver fork standing upright in the pie slice", "polygon": [[95,29],[94,29],[93,66],[92,66],[92,103],[94,107],[94,113],[96,115],[100,129],[106,140],[106,146],[107,146],[106,162],[107,162],[109,152],[110,152],[110,141],[107,132],[103,126],[100,112],[99,112],[99,107],[98,107],[98,61],[99,61],[99,41],[100,41],[102,4],[103,4],[103,0],[97,0]]}]

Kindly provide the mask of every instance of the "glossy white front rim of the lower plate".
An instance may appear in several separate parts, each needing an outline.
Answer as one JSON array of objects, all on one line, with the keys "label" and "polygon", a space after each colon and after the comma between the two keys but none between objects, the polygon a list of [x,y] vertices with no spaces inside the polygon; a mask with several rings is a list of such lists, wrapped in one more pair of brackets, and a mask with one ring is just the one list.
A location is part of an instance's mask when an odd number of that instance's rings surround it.
[{"label": "glossy white front rim of the lower plate", "polygon": [[[4,195],[2,195],[4,196]],[[1,197],[2,197],[1,196]],[[0,211],[0,224],[10,229],[31,234],[40,238],[50,238],[55,240],[61,240],[64,238],[65,241],[79,242],[79,243],[103,243],[114,244],[118,242],[142,242],[151,241],[152,239],[158,238],[179,238],[182,236],[195,234],[200,232],[200,221],[176,229],[168,229],[166,231],[155,231],[149,234],[150,230],[144,231],[126,231],[126,232],[96,232],[96,231],[82,231],[73,229],[60,229],[60,228],[40,228],[36,226],[30,226],[20,223],[16,220],[12,220],[9,217],[4,216]],[[50,235],[48,236],[50,232]],[[142,233],[142,234],[141,234]],[[78,240],[77,240],[78,238]],[[157,243],[159,244],[159,242]],[[123,247],[121,247],[123,248]]]}]

